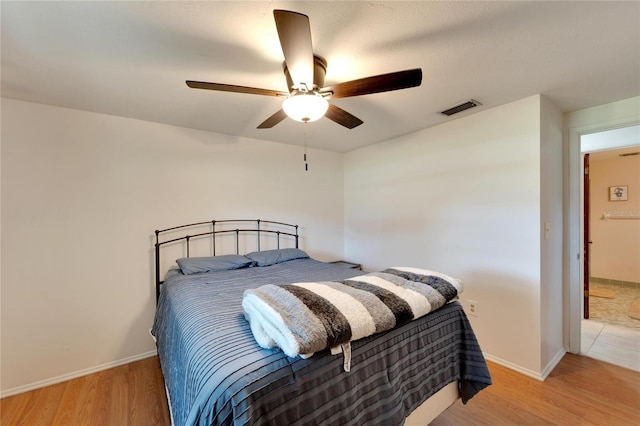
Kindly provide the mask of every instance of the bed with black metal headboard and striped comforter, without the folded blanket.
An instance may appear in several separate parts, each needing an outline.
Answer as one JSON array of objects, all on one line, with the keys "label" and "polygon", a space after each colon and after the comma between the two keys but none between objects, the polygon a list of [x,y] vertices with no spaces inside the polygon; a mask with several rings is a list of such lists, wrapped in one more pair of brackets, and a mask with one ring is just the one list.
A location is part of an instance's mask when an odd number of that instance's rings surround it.
[{"label": "bed with black metal headboard and striped comforter, without the folded blanket", "polygon": [[151,333],[173,424],[426,425],[491,384],[456,301],[352,342],[349,372],[329,350],[303,359],[260,347],[243,313],[245,291],[363,274],[308,257],[299,240],[297,225],[264,220],[156,231]]}]

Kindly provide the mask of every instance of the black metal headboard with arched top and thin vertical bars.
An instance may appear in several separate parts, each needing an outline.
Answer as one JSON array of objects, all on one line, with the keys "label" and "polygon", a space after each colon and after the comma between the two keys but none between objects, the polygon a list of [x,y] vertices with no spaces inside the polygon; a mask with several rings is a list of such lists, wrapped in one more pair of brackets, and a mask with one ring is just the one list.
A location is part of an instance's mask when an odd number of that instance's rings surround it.
[{"label": "black metal headboard with arched top and thin vertical bars", "polygon": [[[226,229],[216,229],[216,225],[218,224],[238,224],[240,226],[243,226],[242,228],[238,227],[238,228],[226,228]],[[180,237],[177,238],[171,238],[165,241],[160,241],[161,240],[161,234],[163,233],[167,233],[167,232],[171,232],[171,233],[175,233],[176,231],[180,232],[180,230],[184,230],[185,232],[188,232],[189,229],[193,229],[193,228],[198,228],[198,227],[203,227],[206,225],[211,225],[211,231],[207,231],[207,232],[198,232],[195,234],[185,234],[182,235]],[[250,227],[251,225],[253,225],[253,227]],[[260,225],[264,225],[264,227],[261,228]],[[281,228],[284,229],[270,229],[270,227],[276,227],[276,228]],[[289,231],[290,230],[290,231]],[[299,240],[299,236],[298,236],[298,225],[292,225],[289,223],[283,223],[283,222],[275,222],[272,220],[261,220],[261,219],[228,219],[228,220],[210,220],[210,221],[206,221],[206,222],[197,222],[197,223],[190,223],[188,225],[180,225],[180,226],[174,226],[171,228],[166,228],[166,229],[161,229],[161,230],[156,230],[156,243],[155,243],[155,249],[156,249],[156,253],[155,253],[155,261],[156,261],[156,271],[155,271],[155,275],[156,275],[156,302],[158,301],[158,298],[160,297],[160,285],[163,283],[163,281],[160,278],[160,247],[162,247],[165,244],[170,244],[170,243],[179,243],[181,241],[183,241],[186,245],[186,257],[189,257],[190,255],[190,241],[194,238],[203,238],[203,237],[211,237],[211,247],[212,247],[212,252],[213,255],[216,255],[216,236],[220,236],[220,235],[228,235],[228,234],[235,234],[235,245],[236,245],[236,254],[240,254],[240,234],[255,234],[256,238],[257,238],[257,251],[260,251],[260,237],[262,235],[275,235],[276,236],[276,242],[277,242],[277,248],[280,248],[280,237],[281,236],[288,236],[288,237],[293,237],[295,239],[295,247],[298,247],[298,240]]]}]

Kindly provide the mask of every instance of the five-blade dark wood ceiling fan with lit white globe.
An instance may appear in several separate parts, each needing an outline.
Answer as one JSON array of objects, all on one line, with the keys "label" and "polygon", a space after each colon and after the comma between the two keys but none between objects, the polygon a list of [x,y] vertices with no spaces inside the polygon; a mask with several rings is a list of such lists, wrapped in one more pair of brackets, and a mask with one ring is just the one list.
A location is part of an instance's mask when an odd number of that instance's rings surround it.
[{"label": "five-blade dark wood ceiling fan with lit white globe", "polygon": [[187,86],[286,98],[282,108],[262,122],[258,129],[269,129],[286,117],[306,123],[323,116],[353,129],[362,124],[362,120],[329,103],[330,99],[407,89],[422,82],[422,69],[415,68],[324,86],[327,61],[313,54],[309,17],[288,10],[274,10],[273,16],[284,53],[284,75],[289,92],[192,80],[187,80]]}]

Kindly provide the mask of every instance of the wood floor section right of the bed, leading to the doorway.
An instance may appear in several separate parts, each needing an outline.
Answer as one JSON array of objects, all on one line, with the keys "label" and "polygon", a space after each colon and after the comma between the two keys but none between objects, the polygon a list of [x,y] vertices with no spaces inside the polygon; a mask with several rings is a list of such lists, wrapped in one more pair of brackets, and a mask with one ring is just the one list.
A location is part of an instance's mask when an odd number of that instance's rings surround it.
[{"label": "wood floor section right of the bed, leading to the doorway", "polygon": [[494,384],[433,421],[448,425],[640,425],[640,373],[567,354],[547,380],[489,362]]}]

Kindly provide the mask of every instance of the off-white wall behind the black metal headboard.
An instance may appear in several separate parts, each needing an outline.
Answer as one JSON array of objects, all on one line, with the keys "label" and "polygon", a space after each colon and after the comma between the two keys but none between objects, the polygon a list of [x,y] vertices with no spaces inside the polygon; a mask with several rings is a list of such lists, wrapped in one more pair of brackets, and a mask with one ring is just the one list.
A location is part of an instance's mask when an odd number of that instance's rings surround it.
[{"label": "off-white wall behind the black metal headboard", "polygon": [[342,257],[342,155],[2,99],[2,392],[155,350],[155,229],[301,225]]}]

